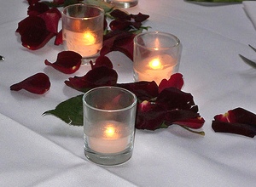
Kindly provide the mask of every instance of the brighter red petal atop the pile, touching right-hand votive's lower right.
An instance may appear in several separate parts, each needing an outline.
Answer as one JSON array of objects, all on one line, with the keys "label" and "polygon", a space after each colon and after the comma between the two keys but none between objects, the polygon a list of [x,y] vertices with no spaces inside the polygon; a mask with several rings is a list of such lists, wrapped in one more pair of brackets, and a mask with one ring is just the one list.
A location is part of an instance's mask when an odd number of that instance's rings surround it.
[{"label": "brighter red petal atop the pile, touching right-hand votive's lower right", "polygon": [[163,79],[159,84],[159,93],[164,90],[165,88],[177,88],[181,89],[183,88],[183,75],[180,73],[173,74],[170,79],[167,81],[166,79]]}]

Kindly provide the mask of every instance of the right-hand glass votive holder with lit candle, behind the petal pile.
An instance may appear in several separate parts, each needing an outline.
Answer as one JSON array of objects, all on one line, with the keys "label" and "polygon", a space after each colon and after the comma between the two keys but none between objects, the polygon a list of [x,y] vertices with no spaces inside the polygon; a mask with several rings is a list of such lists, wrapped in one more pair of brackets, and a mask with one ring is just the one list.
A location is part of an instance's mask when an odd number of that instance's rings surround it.
[{"label": "right-hand glass votive holder with lit candle, behind the petal pile", "polygon": [[172,34],[148,31],[134,38],[133,71],[134,81],[169,79],[178,71],[180,41]]}]

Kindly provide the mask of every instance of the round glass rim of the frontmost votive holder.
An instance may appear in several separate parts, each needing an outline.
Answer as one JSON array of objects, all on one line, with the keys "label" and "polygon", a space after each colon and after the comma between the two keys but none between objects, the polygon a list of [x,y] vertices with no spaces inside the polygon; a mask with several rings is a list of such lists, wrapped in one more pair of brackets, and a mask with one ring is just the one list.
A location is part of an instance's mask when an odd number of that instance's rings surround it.
[{"label": "round glass rim of the frontmost votive holder", "polygon": [[[119,90],[122,90],[122,91],[125,92],[125,93],[131,94],[132,99],[133,99],[133,102],[131,103],[131,105],[128,105],[128,106],[126,106],[126,107],[124,107],[124,108],[122,108],[122,109],[113,109],[113,110],[99,109],[99,108],[96,108],[96,107],[94,107],[94,106],[89,105],[89,104],[85,101],[85,97],[88,96],[90,93],[96,91],[97,89],[102,89],[102,88],[104,88],[104,89],[106,89],[106,88],[108,88],[108,89],[112,89],[112,88],[114,88],[114,89],[119,89]],[[128,111],[128,110],[130,110],[131,108],[133,108],[134,106],[137,105],[137,96],[136,96],[136,94],[133,94],[130,90],[125,89],[125,88],[114,87],[114,86],[103,86],[103,87],[92,88],[92,89],[90,89],[89,91],[87,91],[87,92],[84,94],[84,96],[83,96],[83,104],[86,105],[87,107],[89,107],[90,109],[95,110],[95,111],[104,111],[104,112]]]}]

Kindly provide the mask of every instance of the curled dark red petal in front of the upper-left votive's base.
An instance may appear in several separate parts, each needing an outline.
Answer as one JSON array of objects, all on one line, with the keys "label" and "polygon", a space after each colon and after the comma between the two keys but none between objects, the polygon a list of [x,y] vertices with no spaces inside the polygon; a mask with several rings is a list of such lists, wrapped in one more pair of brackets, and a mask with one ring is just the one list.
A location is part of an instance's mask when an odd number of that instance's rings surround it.
[{"label": "curled dark red petal in front of the upper-left votive's base", "polygon": [[62,51],[58,54],[57,60],[54,63],[50,63],[47,59],[44,60],[45,65],[50,65],[66,74],[72,74],[78,71],[81,63],[82,56],[73,51]]}]

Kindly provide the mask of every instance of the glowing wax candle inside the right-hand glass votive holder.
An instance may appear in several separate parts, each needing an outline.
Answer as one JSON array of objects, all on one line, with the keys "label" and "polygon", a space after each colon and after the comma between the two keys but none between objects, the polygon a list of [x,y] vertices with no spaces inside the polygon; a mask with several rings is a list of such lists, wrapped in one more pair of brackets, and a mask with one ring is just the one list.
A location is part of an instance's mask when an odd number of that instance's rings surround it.
[{"label": "glowing wax candle inside the right-hand glass votive holder", "polygon": [[172,56],[163,54],[159,56],[149,57],[137,62],[134,65],[134,71],[137,74],[137,81],[155,81],[157,84],[162,79],[169,79],[175,71],[177,59]]}]

